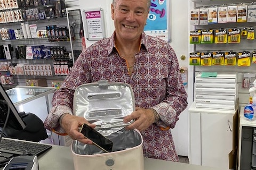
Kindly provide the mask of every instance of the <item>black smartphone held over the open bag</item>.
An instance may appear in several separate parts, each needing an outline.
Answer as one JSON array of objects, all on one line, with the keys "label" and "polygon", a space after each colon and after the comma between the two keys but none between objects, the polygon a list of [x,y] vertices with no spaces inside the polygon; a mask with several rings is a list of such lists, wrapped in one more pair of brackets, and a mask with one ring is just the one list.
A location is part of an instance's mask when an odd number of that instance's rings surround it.
[{"label": "black smartphone held over the open bag", "polygon": [[83,124],[79,132],[83,133],[84,137],[92,140],[93,144],[105,152],[111,152],[113,142],[102,134],[91,128],[87,124]]}]

